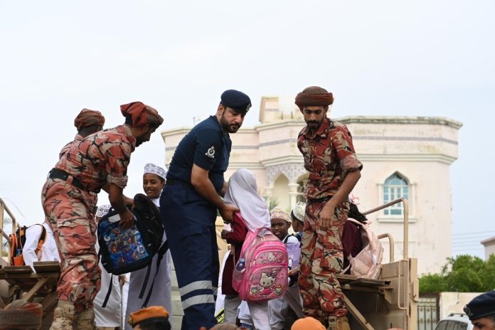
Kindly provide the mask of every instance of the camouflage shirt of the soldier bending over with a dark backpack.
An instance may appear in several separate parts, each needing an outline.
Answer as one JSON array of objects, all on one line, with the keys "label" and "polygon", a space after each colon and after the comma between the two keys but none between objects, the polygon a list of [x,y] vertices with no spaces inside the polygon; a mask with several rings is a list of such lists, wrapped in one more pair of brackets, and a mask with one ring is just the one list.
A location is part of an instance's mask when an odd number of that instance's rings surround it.
[{"label": "camouflage shirt of the soldier bending over with a dark backpack", "polygon": [[73,142],[56,169],[77,178],[88,191],[99,191],[105,183],[127,185],[127,166],[136,139],[127,125],[105,129]]}]

